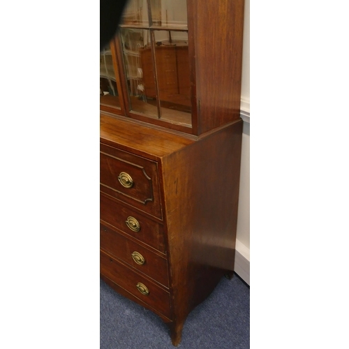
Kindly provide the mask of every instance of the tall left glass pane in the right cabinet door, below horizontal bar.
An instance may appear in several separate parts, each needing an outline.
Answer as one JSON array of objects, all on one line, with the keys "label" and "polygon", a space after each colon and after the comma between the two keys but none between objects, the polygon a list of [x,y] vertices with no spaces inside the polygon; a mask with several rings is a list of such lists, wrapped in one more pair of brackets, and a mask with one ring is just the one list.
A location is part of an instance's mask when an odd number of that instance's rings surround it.
[{"label": "tall left glass pane in the right cabinet door, below horizontal bar", "polygon": [[131,110],[158,118],[151,34],[146,29],[126,28],[120,33]]}]

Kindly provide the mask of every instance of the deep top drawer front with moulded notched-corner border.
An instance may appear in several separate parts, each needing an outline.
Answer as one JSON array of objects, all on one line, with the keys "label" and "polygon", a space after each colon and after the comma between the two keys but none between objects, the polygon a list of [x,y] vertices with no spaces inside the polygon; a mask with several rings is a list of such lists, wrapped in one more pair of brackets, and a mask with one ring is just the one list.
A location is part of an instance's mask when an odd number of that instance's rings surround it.
[{"label": "deep top drawer front with moulded notched-corner border", "polygon": [[100,155],[101,191],[161,218],[157,163],[105,144]]}]

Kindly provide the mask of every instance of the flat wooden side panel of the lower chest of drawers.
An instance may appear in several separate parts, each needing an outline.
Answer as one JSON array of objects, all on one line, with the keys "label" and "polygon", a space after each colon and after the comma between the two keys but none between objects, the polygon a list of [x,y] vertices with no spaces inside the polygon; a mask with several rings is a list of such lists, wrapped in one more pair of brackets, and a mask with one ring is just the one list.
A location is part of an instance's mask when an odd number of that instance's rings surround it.
[{"label": "flat wooden side panel of the lower chest of drawers", "polygon": [[184,321],[233,270],[242,121],[163,159],[174,316]]}]

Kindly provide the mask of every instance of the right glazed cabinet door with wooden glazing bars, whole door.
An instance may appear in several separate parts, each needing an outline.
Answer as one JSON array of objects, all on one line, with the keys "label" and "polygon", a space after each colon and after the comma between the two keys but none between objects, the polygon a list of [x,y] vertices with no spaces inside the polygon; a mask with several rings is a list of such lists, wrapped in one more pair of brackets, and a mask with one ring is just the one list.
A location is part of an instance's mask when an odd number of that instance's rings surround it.
[{"label": "right glazed cabinet door with wooden glazing bars, whole door", "polygon": [[193,133],[187,6],[187,0],[130,0],[117,43],[126,115]]}]

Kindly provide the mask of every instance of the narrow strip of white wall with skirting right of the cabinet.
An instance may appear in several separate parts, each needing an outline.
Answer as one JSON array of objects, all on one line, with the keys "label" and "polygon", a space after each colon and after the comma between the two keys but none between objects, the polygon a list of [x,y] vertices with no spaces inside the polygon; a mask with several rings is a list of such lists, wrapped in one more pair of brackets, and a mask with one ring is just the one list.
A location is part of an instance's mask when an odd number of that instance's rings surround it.
[{"label": "narrow strip of white wall with skirting right of the cabinet", "polygon": [[240,172],[239,211],[235,272],[250,283],[250,0],[245,0],[244,47],[242,54],[241,116],[242,163]]}]

